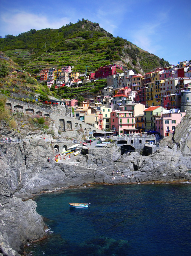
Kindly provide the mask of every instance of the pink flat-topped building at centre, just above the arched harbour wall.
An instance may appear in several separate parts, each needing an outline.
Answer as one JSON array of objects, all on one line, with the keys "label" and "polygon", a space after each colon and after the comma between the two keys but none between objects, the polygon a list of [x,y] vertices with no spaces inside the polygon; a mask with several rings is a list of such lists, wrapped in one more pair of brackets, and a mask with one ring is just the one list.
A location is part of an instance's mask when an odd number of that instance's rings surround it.
[{"label": "pink flat-topped building at centre, just above the arched harbour wall", "polygon": [[135,117],[133,117],[130,111],[112,111],[111,117],[111,129],[116,134],[133,134],[139,133],[139,129],[135,128]]}]

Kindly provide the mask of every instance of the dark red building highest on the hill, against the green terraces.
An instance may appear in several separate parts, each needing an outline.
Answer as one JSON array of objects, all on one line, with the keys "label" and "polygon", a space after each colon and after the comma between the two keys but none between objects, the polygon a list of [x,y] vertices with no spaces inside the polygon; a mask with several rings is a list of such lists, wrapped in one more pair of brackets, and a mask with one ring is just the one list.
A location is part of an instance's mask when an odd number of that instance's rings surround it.
[{"label": "dark red building highest on the hill, against the green terraces", "polygon": [[107,78],[110,75],[117,74],[119,69],[123,70],[123,67],[117,64],[100,67],[95,71],[95,78]]}]

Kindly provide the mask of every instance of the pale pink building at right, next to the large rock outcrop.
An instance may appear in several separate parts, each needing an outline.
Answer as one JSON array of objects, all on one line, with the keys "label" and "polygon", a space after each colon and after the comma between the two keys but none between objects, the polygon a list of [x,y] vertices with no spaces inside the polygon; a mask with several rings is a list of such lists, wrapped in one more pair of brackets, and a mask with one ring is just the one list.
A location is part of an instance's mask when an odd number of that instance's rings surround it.
[{"label": "pale pink building at right, next to the large rock outcrop", "polygon": [[[160,117],[156,117],[156,132],[159,132],[163,137],[173,134],[175,128],[180,124],[181,119],[185,116],[186,112],[173,112],[175,109],[161,112]],[[177,111],[177,110],[176,110]]]}]

